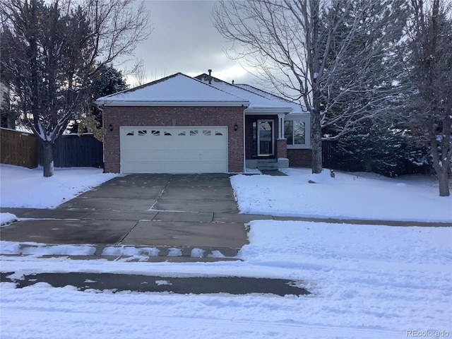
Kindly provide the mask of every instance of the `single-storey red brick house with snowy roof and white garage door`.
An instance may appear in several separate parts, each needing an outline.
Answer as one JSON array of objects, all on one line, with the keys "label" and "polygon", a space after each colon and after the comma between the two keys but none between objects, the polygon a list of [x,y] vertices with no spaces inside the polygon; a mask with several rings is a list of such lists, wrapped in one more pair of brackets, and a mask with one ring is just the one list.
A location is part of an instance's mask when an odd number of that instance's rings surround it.
[{"label": "single-storey red brick house with snowy roof and white garage door", "polygon": [[182,73],[101,97],[105,172],[226,173],[311,165],[309,114],[249,85]]}]

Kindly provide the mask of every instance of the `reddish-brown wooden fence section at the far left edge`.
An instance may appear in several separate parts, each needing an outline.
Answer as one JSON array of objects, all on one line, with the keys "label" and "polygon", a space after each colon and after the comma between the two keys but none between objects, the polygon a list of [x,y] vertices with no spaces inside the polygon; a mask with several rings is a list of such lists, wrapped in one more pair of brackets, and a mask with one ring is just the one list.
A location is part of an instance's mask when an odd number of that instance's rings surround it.
[{"label": "reddish-brown wooden fence section at the far left edge", "polygon": [[0,157],[2,164],[28,168],[37,167],[37,148],[39,141],[32,133],[0,130]]}]

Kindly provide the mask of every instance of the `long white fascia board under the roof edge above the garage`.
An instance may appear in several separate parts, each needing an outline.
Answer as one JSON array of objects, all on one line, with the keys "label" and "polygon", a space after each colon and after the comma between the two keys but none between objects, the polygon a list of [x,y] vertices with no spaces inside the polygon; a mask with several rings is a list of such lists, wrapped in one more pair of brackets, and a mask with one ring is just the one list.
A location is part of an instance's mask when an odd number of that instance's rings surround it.
[{"label": "long white fascia board under the roof edge above the garage", "polygon": [[210,107],[248,107],[248,101],[117,101],[97,100],[98,106],[210,106]]}]

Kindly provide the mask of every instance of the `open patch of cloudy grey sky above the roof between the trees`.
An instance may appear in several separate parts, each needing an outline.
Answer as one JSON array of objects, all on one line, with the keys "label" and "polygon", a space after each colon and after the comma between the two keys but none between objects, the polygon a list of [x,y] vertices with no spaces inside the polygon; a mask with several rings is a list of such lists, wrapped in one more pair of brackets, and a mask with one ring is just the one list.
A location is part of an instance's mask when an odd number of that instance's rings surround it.
[{"label": "open patch of cloudy grey sky above the roof between the trees", "polygon": [[153,32],[136,49],[136,58],[143,59],[148,81],[212,69],[224,81],[253,84],[252,76],[225,54],[230,44],[213,27],[214,5],[214,0],[145,1]]}]

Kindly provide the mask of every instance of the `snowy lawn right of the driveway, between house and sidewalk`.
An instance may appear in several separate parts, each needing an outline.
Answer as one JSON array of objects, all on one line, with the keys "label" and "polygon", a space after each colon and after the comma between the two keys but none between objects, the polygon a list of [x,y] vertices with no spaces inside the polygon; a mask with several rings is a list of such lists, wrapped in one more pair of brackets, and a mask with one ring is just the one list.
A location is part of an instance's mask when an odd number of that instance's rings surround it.
[{"label": "snowy lawn right of the driveway, between house and sidewalk", "polygon": [[[452,196],[440,197],[438,183],[420,175],[283,169],[287,177],[231,178],[241,213],[363,220],[452,221]],[[316,182],[310,184],[309,180]]]}]

